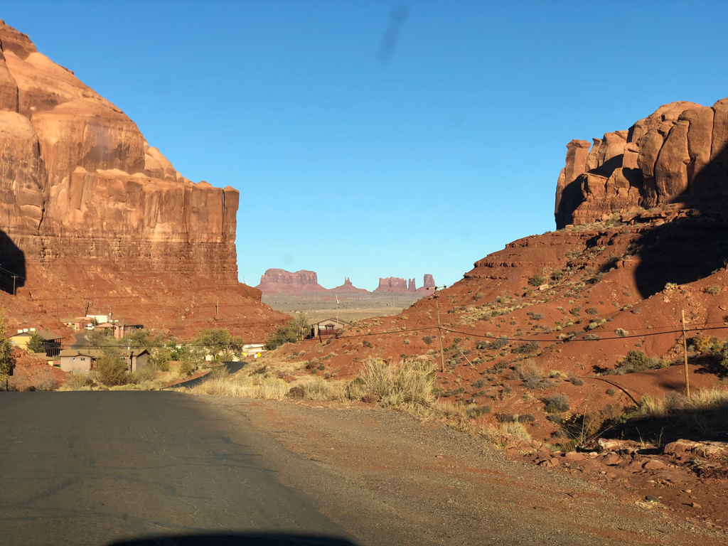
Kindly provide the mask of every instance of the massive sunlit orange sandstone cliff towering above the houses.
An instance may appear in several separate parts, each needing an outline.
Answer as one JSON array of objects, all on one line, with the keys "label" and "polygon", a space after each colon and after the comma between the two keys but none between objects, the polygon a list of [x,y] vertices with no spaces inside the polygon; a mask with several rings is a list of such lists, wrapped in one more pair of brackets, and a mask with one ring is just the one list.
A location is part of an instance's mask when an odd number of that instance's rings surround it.
[{"label": "massive sunlit orange sandstone cliff towering above the houses", "polygon": [[220,297],[223,314],[205,323],[258,336],[282,320],[237,281],[238,191],[184,178],[124,112],[1,21],[0,195],[3,288],[17,274],[41,314],[112,306],[188,331],[194,301],[199,313]]}]

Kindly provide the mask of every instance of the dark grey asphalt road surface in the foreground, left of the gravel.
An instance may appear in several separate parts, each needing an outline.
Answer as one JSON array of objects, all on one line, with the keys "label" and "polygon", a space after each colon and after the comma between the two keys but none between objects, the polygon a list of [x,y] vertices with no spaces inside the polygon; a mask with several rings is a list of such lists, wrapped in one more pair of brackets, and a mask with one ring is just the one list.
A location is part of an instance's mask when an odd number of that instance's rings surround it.
[{"label": "dark grey asphalt road surface in the foreground, left of the gravel", "polygon": [[1,392],[0,544],[354,543],[231,426],[175,392]]}]

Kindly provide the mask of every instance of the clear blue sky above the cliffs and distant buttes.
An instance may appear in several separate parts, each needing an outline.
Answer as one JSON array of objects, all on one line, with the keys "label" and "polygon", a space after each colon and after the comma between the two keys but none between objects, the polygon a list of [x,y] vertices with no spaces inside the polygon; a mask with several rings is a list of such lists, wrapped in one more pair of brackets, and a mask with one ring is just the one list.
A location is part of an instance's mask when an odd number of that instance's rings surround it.
[{"label": "clear blue sky above the cliffs and distant buttes", "polygon": [[[724,2],[14,2],[0,17],[187,178],[241,191],[240,280],[450,285],[554,228],[566,143],[728,96]],[[384,38],[384,41],[383,41]],[[385,46],[383,47],[383,43]]]}]

